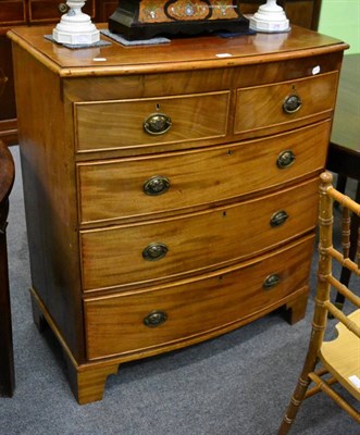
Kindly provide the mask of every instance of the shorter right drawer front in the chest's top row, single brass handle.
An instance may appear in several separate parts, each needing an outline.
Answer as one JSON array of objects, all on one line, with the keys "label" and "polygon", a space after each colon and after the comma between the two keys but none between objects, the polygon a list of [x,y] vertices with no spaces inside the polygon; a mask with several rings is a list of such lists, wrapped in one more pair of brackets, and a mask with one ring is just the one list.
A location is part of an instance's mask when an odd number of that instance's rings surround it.
[{"label": "shorter right drawer front in the chest's top row, single brass handle", "polygon": [[289,129],[311,117],[328,117],[334,104],[337,72],[274,85],[237,90],[234,133],[264,134],[266,128]]}]

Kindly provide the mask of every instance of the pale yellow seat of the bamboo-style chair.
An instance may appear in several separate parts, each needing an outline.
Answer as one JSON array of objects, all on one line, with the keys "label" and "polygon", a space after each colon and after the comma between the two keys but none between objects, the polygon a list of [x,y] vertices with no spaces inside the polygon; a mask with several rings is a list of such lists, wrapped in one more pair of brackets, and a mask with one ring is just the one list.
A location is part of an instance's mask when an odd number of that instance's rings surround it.
[{"label": "pale yellow seat of the bamboo-style chair", "polygon": [[[360,309],[349,314],[348,319],[360,326]],[[357,387],[349,380],[357,376],[360,384],[360,341],[342,323],[336,325],[336,330],[338,336],[332,341],[323,341],[319,357],[328,372],[360,401],[360,385]]]}]

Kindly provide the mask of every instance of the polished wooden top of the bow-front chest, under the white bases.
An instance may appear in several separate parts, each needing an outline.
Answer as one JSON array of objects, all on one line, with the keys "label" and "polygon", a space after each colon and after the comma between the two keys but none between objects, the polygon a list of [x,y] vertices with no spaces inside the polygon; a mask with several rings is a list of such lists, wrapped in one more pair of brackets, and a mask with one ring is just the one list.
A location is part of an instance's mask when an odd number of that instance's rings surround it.
[{"label": "polished wooden top of the bow-front chest, under the white bases", "polygon": [[[105,25],[99,25],[99,28]],[[231,67],[343,51],[338,39],[294,26],[289,33],[173,39],[159,46],[69,49],[45,38],[51,27],[18,27],[8,33],[17,45],[61,76],[138,74]]]}]

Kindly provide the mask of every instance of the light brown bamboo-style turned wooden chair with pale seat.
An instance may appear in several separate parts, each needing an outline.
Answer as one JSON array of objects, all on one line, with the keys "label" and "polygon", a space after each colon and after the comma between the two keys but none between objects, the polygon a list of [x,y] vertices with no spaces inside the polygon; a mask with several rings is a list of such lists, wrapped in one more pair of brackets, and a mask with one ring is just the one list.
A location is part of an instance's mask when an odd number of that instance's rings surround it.
[{"label": "light brown bamboo-style turned wooden chair with pale seat", "polygon": [[[330,172],[321,175],[319,206],[319,266],[315,309],[308,355],[298,380],[294,396],[287,408],[278,435],[288,433],[303,399],[319,391],[330,396],[340,408],[347,411],[358,423],[360,413],[332,387],[339,383],[351,396],[360,401],[360,297],[332,275],[333,261],[351,271],[353,287],[358,291],[360,276],[360,244],[357,250],[357,263],[349,259],[350,214],[360,215],[360,204],[336,190]],[[342,244],[344,253],[333,247],[333,201],[343,206]],[[359,229],[358,229],[359,231]],[[360,240],[360,237],[358,238]],[[331,290],[339,291],[351,307],[357,307],[345,315],[331,302]],[[336,318],[337,337],[325,341],[324,334],[327,313]],[[325,376],[324,376],[325,375]],[[324,377],[323,377],[324,376]],[[309,385],[314,386],[309,389]]]}]

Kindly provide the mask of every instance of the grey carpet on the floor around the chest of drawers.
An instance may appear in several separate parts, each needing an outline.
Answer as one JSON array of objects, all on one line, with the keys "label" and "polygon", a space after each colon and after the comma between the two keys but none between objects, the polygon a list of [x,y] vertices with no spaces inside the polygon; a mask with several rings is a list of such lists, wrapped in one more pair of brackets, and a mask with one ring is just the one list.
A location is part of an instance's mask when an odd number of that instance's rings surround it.
[{"label": "grey carpet on the floor around the chest of drawers", "polygon": [[[270,435],[288,403],[310,332],[275,312],[181,351],[120,366],[100,402],[78,406],[57,340],[33,324],[18,148],[8,227],[16,389],[0,398],[7,435]],[[314,285],[314,273],[311,276]],[[324,395],[308,399],[291,434],[355,435],[359,426]]]}]

